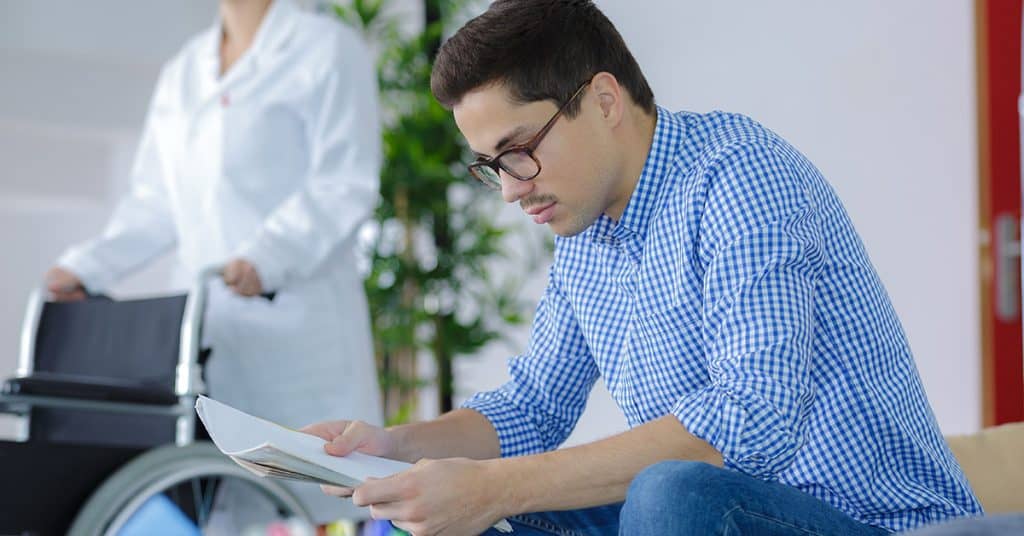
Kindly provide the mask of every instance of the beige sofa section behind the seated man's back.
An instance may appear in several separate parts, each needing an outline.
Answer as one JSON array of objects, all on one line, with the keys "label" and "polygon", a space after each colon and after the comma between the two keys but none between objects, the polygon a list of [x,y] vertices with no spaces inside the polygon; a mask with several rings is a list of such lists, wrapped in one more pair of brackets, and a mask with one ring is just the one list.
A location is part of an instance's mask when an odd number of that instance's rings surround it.
[{"label": "beige sofa section behind the seated man's back", "polygon": [[1024,512],[1024,422],[947,440],[985,513]]}]

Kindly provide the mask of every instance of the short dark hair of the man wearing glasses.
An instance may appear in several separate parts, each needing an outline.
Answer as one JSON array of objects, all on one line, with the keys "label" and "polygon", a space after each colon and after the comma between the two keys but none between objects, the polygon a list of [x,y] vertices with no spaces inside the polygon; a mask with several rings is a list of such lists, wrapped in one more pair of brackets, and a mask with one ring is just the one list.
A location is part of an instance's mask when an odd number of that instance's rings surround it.
[{"label": "short dark hair of the man wearing glasses", "polygon": [[[565,102],[595,74],[608,72],[654,115],[654,94],[636,58],[591,0],[497,0],[441,45],[430,76],[451,110],[474,89],[502,83],[517,102]],[[565,110],[580,111],[579,101]]]}]

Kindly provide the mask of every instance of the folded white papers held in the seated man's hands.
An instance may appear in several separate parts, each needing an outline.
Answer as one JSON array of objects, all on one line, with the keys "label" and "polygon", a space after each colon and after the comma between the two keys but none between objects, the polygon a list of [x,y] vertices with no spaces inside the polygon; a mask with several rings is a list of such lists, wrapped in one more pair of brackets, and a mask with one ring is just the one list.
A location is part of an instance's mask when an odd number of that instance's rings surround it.
[{"label": "folded white papers held in the seated man's hands", "polygon": [[[221,452],[260,477],[354,488],[369,478],[383,479],[412,466],[361,452],[332,456],[324,452],[321,438],[206,397],[196,401],[196,413]],[[512,530],[504,520],[495,527],[502,532]]]}]

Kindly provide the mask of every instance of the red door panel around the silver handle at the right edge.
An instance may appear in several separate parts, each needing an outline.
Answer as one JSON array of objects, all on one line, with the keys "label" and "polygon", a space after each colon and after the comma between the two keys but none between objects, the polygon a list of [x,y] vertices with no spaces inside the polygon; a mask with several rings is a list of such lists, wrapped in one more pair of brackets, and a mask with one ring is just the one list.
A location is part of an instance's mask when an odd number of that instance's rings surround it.
[{"label": "red door panel around the silver handle at the right edge", "polygon": [[[999,266],[994,225],[1000,214],[1021,215],[1021,0],[976,0],[982,411],[985,425],[1024,420],[1021,317],[995,313]],[[1006,264],[1004,263],[1004,266]],[[1019,281],[1019,264],[1016,276]],[[1018,289],[1020,289],[1018,284]],[[1018,303],[1020,298],[1018,297]]]}]

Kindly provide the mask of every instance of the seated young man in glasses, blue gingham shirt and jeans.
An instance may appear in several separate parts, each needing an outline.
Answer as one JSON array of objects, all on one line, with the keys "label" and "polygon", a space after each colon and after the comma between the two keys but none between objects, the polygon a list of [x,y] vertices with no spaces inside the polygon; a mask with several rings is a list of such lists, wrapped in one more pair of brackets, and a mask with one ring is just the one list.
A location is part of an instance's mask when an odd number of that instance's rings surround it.
[{"label": "seated young man in glasses, blue gingham shirt and jeans", "polygon": [[[432,85],[472,173],[558,235],[555,259],[507,384],[430,422],[307,429],[332,454],[418,462],[356,504],[416,536],[502,518],[516,534],[869,535],[980,513],[860,239],[792,146],[656,108],[586,0],[495,2]],[[631,429],[555,450],[598,377]]]}]

